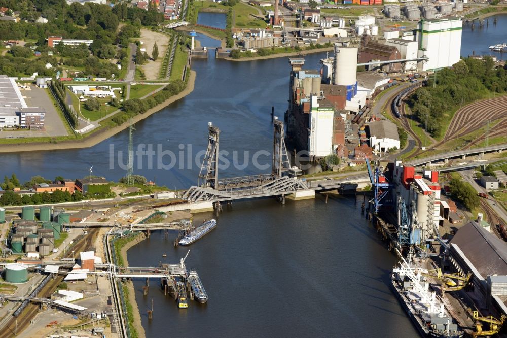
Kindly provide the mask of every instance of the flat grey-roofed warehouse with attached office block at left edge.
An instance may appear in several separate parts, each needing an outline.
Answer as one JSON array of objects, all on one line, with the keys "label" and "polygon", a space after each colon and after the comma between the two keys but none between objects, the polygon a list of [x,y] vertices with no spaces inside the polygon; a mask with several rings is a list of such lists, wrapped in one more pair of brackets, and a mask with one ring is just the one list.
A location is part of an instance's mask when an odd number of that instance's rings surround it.
[{"label": "flat grey-roofed warehouse with attached office block at left edge", "polygon": [[26,105],[14,78],[0,75],[0,127],[43,129],[45,115],[44,109]]}]

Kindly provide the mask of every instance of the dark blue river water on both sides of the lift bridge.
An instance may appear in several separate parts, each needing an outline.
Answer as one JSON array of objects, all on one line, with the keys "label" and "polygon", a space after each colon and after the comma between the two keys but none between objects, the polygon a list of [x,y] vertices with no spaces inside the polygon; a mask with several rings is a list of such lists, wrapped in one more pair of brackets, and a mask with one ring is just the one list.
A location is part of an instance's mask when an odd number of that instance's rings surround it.
[{"label": "dark blue river water on both sides of the lift bridge", "polygon": [[[492,20],[488,32],[505,31],[505,16],[496,27]],[[484,32],[477,39],[479,33],[463,30],[463,56],[471,54],[472,47],[479,54],[486,52],[484,47],[502,42]],[[203,46],[218,45],[201,35],[198,40]],[[322,56],[307,55],[305,67],[316,67]],[[271,151],[271,107],[280,117],[287,107],[286,58],[230,62],[215,60],[210,52],[207,61],[194,59],[192,69],[197,80],[190,95],[135,125],[134,150],[139,144],[151,144],[154,149],[160,145],[161,152],[179,155],[182,145],[184,160],[170,169],[157,168],[157,160],[150,168],[146,157],[139,162],[136,157],[134,164],[135,174],[170,188],[196,183],[199,167],[193,159],[206,147],[209,121],[222,131],[221,149],[238,151],[237,162],[244,163],[256,151]],[[89,149],[2,154],[0,175],[16,173],[22,181],[32,175],[76,178],[85,177],[93,165],[94,174],[118,180],[126,170],[118,165],[117,151],[125,153],[127,142],[128,132],[122,131]],[[249,151],[246,156],[245,150]],[[168,165],[170,156],[162,155],[162,164]],[[259,165],[268,163],[268,156],[259,157]],[[269,171],[259,165],[248,163],[244,170],[232,165],[221,171],[221,177]],[[325,204],[317,196],[285,205],[262,199],[224,206],[217,228],[191,246],[186,261],[204,283],[209,295],[205,305],[192,301],[189,309],[178,310],[157,283],[151,283],[144,297],[143,283],[135,282],[147,336],[163,336],[168,331],[184,336],[416,336],[388,287],[395,259],[361,217],[361,202],[362,197],[357,204],[353,198],[336,197]],[[211,217],[211,213],[197,214],[195,221]],[[164,239],[161,233],[154,233],[130,249],[131,266],[177,262],[187,249],[173,247],[174,235]],[[162,258],[164,253],[167,258]],[[152,299],[154,319],[149,322]]]}]

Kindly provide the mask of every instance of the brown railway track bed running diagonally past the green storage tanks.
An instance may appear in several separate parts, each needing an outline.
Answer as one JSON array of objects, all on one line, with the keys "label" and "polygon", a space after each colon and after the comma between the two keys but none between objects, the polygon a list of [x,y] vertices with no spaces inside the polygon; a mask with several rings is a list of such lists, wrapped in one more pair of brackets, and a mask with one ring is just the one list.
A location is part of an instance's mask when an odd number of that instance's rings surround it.
[{"label": "brown railway track bed running diagonally past the green storage tanks", "polygon": [[[90,246],[93,246],[93,242],[98,235],[98,228],[93,228],[90,230],[89,234],[85,236],[82,241],[79,241],[76,246],[74,246],[74,257],[70,257],[72,255],[72,251],[69,251],[64,255],[65,258],[77,258],[79,253]],[[63,281],[63,276],[57,276],[46,284],[45,287],[39,292],[38,296],[41,298],[50,298],[51,294],[54,290],[60,285]],[[12,338],[15,336],[15,333],[19,334],[23,331],[23,329],[27,328],[30,325],[31,320],[35,315],[39,313],[40,306],[38,304],[29,303],[28,306],[23,310],[21,315],[18,317],[12,317],[12,319],[7,323],[6,326],[0,331],[0,338]]]}]

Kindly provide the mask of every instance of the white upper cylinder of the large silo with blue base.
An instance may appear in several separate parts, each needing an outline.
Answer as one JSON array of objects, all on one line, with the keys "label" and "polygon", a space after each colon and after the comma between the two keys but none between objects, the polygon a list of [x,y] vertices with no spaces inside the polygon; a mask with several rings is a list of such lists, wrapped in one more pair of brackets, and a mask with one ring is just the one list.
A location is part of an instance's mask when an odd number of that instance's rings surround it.
[{"label": "white upper cylinder of the large silo with blue base", "polygon": [[335,45],[335,77],[333,84],[352,86],[357,82],[357,47]]}]

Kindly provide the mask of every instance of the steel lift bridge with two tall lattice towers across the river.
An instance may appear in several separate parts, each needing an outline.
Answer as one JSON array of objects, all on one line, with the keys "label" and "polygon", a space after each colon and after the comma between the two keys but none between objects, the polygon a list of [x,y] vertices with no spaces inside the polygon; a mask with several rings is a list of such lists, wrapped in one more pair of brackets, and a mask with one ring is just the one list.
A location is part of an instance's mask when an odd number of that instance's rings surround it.
[{"label": "steel lift bridge with two tall lattice towers across the river", "polygon": [[183,199],[190,202],[219,202],[283,195],[300,189],[308,189],[305,182],[296,177],[284,175],[291,168],[284,141],[284,125],[282,121],[275,117],[273,126],[271,173],[219,179],[220,129],[209,122],[208,147],[199,172],[197,186],[190,187],[183,195]]}]

